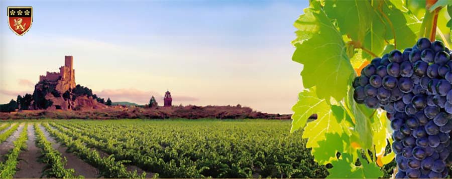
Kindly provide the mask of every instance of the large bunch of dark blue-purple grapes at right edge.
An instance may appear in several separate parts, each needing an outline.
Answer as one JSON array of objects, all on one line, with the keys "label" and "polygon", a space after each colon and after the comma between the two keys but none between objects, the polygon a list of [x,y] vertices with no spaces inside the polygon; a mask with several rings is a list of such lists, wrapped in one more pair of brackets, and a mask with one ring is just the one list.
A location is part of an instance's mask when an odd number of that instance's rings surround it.
[{"label": "large bunch of dark blue-purple grapes at right edge", "polygon": [[452,165],[452,53],[426,38],[375,58],[353,81],[354,99],[387,111],[396,178],[441,178]]}]

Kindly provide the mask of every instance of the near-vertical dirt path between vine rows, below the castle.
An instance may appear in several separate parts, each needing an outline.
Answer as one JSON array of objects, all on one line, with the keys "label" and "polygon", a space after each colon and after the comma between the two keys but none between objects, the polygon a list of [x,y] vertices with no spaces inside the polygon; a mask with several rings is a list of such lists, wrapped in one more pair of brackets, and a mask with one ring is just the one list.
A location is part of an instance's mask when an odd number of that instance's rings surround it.
[{"label": "near-vertical dirt path between vine rows, below the castle", "polygon": [[41,156],[41,149],[36,146],[33,125],[29,124],[27,130],[27,150],[19,154],[20,161],[17,165],[19,170],[16,172],[15,178],[39,178],[45,167],[44,163],[38,161],[39,156]]}]

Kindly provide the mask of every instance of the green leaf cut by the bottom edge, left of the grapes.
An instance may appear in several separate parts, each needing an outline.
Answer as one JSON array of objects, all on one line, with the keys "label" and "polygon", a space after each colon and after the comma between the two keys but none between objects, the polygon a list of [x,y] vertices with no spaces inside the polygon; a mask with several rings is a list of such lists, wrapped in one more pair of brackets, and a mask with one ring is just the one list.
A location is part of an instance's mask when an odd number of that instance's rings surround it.
[{"label": "green leaf cut by the bottom edge, left of the grapes", "polygon": [[331,162],[333,167],[328,169],[327,178],[378,178],[383,175],[374,162],[368,163],[361,157],[360,161],[361,166],[356,166],[350,154],[342,153],[341,159]]}]

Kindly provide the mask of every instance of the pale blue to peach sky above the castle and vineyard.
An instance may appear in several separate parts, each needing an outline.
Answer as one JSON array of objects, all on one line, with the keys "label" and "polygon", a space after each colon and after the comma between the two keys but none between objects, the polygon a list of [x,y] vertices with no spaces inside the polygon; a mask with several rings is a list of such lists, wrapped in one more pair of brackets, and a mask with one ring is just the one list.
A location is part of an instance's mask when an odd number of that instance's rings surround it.
[{"label": "pale blue to peach sky above the castle and vineyard", "polygon": [[[32,6],[23,36],[8,6]],[[237,105],[291,114],[302,65],[294,21],[308,1],[1,1],[0,103],[74,58],[75,81],[112,101]]]}]

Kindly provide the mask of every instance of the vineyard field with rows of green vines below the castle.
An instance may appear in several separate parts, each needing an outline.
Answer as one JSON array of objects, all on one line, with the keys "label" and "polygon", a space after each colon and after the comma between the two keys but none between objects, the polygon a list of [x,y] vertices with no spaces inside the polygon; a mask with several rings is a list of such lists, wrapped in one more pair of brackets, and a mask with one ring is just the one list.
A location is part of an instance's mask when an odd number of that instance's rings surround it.
[{"label": "vineyard field with rows of green vines below the castle", "polygon": [[0,178],[325,177],[289,129],[255,119],[4,121]]}]

